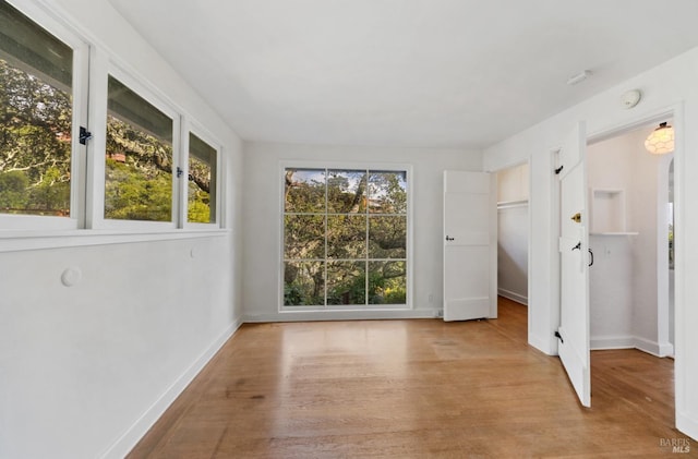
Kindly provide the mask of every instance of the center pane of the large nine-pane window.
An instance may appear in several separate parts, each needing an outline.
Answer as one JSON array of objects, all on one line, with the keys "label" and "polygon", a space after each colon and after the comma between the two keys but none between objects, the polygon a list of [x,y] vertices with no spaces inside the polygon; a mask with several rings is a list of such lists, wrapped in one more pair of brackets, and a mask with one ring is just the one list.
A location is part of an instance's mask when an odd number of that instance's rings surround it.
[{"label": "center pane of the large nine-pane window", "polygon": [[327,257],[365,258],[366,216],[327,216]]}]

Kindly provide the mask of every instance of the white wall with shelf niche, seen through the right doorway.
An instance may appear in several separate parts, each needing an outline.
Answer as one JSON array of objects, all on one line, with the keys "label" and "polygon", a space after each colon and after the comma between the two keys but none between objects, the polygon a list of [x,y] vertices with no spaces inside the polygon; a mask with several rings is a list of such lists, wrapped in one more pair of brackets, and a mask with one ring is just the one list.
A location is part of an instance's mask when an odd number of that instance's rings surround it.
[{"label": "white wall with shelf niche, seen through the right doorway", "polygon": [[[590,278],[590,334],[592,349],[638,348],[661,354],[658,311],[660,300],[658,225],[659,172],[665,156],[650,155],[645,138],[649,125],[588,147],[588,184],[591,190],[623,190],[624,203],[613,217],[623,216],[633,235],[594,235],[590,246],[594,265]],[[665,183],[664,183],[665,184]],[[594,198],[590,193],[591,208]],[[592,216],[591,231],[606,228]],[[667,275],[667,273],[663,273]],[[664,307],[669,292],[664,287]]]}]

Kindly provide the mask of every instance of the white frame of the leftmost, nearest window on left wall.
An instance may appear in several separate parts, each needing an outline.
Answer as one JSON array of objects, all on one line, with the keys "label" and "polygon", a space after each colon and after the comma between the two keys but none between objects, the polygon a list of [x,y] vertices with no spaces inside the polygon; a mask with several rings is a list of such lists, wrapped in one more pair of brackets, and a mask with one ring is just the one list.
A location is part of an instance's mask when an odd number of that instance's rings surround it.
[{"label": "white frame of the leftmost, nearest window on left wall", "polygon": [[35,22],[39,27],[61,40],[73,50],[72,97],[73,122],[71,126],[71,181],[70,216],[36,216],[0,214],[0,237],[15,232],[76,230],[84,226],[85,201],[84,171],[86,169],[86,148],[77,142],[80,126],[87,125],[87,82],[89,45],[80,34],[43,8],[31,2],[8,1],[10,5]]}]

